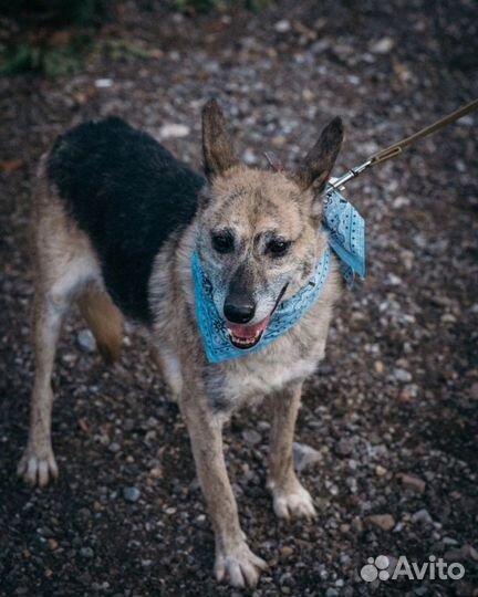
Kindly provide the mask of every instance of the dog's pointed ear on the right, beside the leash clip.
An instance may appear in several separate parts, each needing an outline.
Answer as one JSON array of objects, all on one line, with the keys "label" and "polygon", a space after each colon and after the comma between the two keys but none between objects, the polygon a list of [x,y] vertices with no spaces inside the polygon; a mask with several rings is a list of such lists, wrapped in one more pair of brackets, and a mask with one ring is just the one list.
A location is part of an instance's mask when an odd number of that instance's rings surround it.
[{"label": "dog's pointed ear on the right, beside the leash clip", "polygon": [[291,176],[302,191],[312,185],[318,191],[323,190],[332,172],[342,140],[343,124],[337,116],[322,130],[316,144]]}]

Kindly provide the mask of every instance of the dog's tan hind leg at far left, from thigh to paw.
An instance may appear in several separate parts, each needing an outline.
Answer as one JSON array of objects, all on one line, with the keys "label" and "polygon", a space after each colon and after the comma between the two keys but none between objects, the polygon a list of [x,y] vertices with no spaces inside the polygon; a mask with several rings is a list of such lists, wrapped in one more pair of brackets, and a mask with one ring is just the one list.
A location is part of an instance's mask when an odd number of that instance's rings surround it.
[{"label": "dog's tan hind leg at far left, from thigh to paw", "polygon": [[42,176],[37,189],[35,207],[35,371],[29,439],[18,473],[27,482],[43,486],[58,476],[51,442],[51,376],[56,342],[72,300],[85,284],[97,279],[98,265],[90,242],[69,219],[61,200],[48,189]]}]

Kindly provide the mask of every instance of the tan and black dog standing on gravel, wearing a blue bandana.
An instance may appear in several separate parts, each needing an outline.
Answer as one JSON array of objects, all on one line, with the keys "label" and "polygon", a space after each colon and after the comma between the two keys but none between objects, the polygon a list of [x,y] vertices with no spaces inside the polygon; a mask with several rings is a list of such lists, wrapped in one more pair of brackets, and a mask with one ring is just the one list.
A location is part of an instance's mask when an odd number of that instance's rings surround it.
[{"label": "tan and black dog standing on gravel, wearing a blue bandana", "polygon": [[[285,333],[261,342],[276,310],[308,286],[325,254],[321,192],[342,139],[334,118],[294,171],[254,169],[238,159],[215,100],[202,109],[205,176],[118,118],[81,124],[56,139],[34,191],[35,373],[18,468],[27,482],[43,486],[58,476],[51,375],[69,307],[79,302],[110,362],[126,318],[149,337],[186,421],[215,532],[216,577],[236,587],[257,584],[267,565],[239,524],[222,427],[239,407],[268,397],[273,510],[283,519],[314,516],[293,469],[292,441],[302,384],[323,358],[343,285],[336,256],[311,307]],[[207,357],[194,255],[238,358]]]}]

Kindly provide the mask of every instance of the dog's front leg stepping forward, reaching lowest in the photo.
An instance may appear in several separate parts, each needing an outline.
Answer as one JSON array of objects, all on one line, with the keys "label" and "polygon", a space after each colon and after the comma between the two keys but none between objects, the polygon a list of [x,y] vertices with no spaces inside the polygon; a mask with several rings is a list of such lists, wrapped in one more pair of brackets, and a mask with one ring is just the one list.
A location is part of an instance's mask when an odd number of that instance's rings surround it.
[{"label": "dog's front leg stepping forward, reaching lowest in the photo", "polygon": [[248,547],[222,452],[222,423],[206,399],[184,390],[180,409],[193,446],[199,483],[206,498],[216,536],[215,573],[236,587],[254,586],[267,564]]}]

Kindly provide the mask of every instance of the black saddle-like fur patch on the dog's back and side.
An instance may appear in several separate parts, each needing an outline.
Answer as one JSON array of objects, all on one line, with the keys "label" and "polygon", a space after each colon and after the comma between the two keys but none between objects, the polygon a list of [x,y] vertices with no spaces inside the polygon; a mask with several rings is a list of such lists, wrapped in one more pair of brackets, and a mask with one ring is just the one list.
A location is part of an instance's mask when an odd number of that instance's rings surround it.
[{"label": "black saddle-like fur patch on the dog's back and side", "polygon": [[149,324],[154,259],[173,232],[191,222],[204,178],[119,118],[82,124],[59,137],[48,176],[92,240],[114,302]]}]

